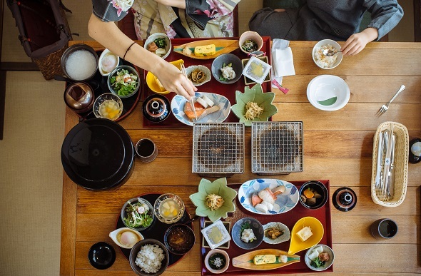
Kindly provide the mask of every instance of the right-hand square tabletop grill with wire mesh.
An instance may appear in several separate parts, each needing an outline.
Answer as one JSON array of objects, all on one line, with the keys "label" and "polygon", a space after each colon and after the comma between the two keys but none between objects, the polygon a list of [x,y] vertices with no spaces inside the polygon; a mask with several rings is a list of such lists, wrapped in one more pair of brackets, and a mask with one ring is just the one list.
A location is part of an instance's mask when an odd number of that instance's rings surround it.
[{"label": "right-hand square tabletop grill with wire mesh", "polygon": [[303,122],[253,122],[251,131],[253,173],[303,171]]}]

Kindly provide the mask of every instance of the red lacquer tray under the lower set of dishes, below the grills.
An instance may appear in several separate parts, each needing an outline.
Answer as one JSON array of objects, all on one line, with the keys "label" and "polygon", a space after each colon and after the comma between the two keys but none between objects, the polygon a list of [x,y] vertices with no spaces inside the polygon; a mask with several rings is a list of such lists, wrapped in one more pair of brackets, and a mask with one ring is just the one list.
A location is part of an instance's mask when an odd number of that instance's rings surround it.
[{"label": "red lacquer tray under the lower set of dishes, below the grills", "polygon": [[[321,183],[323,183],[326,188],[328,189],[328,192],[330,191],[329,188],[329,180],[319,180]],[[298,190],[300,190],[301,185],[303,185],[307,181],[289,181],[290,183],[293,183]],[[233,184],[228,185],[230,188],[233,188],[235,190],[238,190],[240,188],[241,184]],[[245,210],[243,206],[238,202],[238,197],[235,199],[235,212],[230,213],[228,215],[228,218],[225,219],[225,221],[230,221],[232,228],[234,223],[239,220],[240,218],[255,218],[262,223],[262,225],[265,225],[266,223],[270,222],[280,222],[288,226],[290,230],[293,229],[293,226],[295,223],[303,217],[314,217],[320,220],[320,223],[322,223],[323,228],[325,229],[325,234],[323,235],[322,240],[320,240],[320,244],[328,245],[332,248],[332,228],[330,225],[330,198],[328,198],[328,202],[320,209],[318,210],[310,210],[305,208],[301,203],[298,203],[293,210],[290,210],[287,213],[283,213],[280,215],[257,215],[255,213],[250,213],[248,210]],[[201,218],[201,229],[203,229],[203,225],[205,223],[205,218]],[[231,231],[231,229],[230,229]],[[202,237],[201,237],[202,239]],[[265,248],[275,248],[278,250],[284,250],[288,252],[288,249],[290,247],[290,240],[288,242],[282,242],[278,245],[269,245],[266,242],[262,242],[258,247],[256,247],[253,250],[258,249],[265,249]],[[250,250],[244,250],[235,245],[235,243],[231,240],[230,242],[230,248],[224,249],[228,255],[230,256],[230,259],[233,257],[237,257],[239,255],[243,255],[246,252],[249,252]],[[333,248],[333,250],[335,250]],[[206,254],[210,251],[210,248],[203,247],[201,245],[201,267],[202,267],[202,275],[213,275],[213,273],[209,272],[205,267],[205,257]],[[244,270],[242,268],[233,267],[233,265],[230,262],[230,266],[228,267],[228,270],[223,272],[223,275],[245,275],[245,274],[253,274],[253,275],[269,275],[269,274],[285,274],[285,273],[305,273],[305,272],[314,272],[313,270],[310,270],[310,268],[305,265],[304,257],[305,252],[307,250],[303,250],[300,252],[295,253],[295,255],[300,255],[300,262],[293,263],[292,265],[287,265],[285,267],[281,267],[275,270]],[[327,270],[324,270],[323,272],[333,272],[333,265],[329,267]]]}]

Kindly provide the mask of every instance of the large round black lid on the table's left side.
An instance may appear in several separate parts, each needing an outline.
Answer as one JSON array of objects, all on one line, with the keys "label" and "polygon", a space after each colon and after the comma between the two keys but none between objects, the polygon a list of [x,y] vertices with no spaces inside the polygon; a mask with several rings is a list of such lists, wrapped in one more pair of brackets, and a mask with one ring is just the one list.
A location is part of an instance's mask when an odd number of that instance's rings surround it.
[{"label": "large round black lid on the table's left side", "polygon": [[69,178],[90,190],[119,185],[130,172],[133,157],[133,144],[126,130],[103,118],[78,123],[61,147],[61,162]]}]

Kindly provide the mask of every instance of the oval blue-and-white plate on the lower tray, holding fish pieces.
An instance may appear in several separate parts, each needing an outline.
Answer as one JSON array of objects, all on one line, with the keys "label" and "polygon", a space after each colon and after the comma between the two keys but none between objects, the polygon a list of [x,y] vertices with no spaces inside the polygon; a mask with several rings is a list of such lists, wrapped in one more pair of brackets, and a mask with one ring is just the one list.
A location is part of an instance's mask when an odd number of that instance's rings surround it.
[{"label": "oval blue-and-white plate on the lower tray, holding fish pieces", "polygon": [[[280,185],[285,186],[285,192],[276,195],[275,204],[273,205],[273,210],[268,210],[268,213],[263,213],[260,210],[256,210],[253,207],[251,197],[253,193],[259,193],[260,190],[269,188],[272,190]],[[245,210],[250,211],[251,213],[259,215],[278,215],[286,213],[289,210],[292,210],[295,205],[297,205],[300,194],[298,193],[297,187],[292,183],[289,183],[284,180],[278,179],[253,179],[248,180],[243,183],[238,189],[238,200],[240,204],[243,205]]]}]

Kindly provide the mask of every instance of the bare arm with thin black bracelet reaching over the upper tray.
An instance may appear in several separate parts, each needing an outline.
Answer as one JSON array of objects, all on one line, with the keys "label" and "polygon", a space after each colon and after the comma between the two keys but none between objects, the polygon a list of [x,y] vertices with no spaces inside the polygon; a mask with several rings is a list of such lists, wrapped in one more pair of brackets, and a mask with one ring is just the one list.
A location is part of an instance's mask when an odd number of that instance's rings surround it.
[{"label": "bare arm with thin black bracelet reaching over the upper tray", "polygon": [[[88,31],[92,39],[121,57],[126,53],[128,46],[133,43],[114,22],[103,22],[93,14],[89,19]],[[168,91],[176,92],[190,99],[191,96],[194,96],[194,91],[197,90],[191,81],[178,71],[176,66],[138,44],[131,46],[130,51],[126,54],[126,61],[151,71]]]}]

